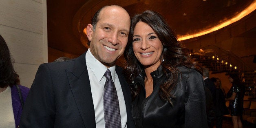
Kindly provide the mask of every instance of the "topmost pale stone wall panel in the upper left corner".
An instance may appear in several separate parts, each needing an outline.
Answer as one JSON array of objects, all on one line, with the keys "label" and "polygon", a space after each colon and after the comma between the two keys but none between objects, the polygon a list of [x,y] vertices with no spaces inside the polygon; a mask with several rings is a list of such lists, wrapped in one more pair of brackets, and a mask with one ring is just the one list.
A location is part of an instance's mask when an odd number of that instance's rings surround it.
[{"label": "topmost pale stone wall panel in the upper left corner", "polygon": [[42,3],[33,0],[0,0],[0,24],[43,34]]}]

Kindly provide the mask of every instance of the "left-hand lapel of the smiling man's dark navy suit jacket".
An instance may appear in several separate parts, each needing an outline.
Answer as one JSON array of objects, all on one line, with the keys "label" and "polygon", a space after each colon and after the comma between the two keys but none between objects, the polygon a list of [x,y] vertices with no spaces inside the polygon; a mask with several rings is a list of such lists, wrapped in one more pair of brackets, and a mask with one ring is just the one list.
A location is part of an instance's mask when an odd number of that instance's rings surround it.
[{"label": "left-hand lapel of the smiling man's dark navy suit jacket", "polygon": [[85,61],[86,52],[75,60],[73,70],[66,74],[79,113],[87,128],[96,128],[93,97],[90,89],[90,80]]}]

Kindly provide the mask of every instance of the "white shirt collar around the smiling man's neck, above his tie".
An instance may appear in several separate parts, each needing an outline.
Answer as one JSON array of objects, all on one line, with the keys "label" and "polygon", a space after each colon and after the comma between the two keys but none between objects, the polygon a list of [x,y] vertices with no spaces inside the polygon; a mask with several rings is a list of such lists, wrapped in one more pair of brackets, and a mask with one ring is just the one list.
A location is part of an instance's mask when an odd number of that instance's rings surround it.
[{"label": "white shirt collar around the smiling man's neck, above his tie", "polygon": [[112,79],[115,83],[115,77],[116,77],[116,75],[115,75],[115,65],[111,66],[110,68],[107,68],[106,66],[104,66],[101,62],[99,62],[99,60],[97,60],[93,56],[93,54],[90,52],[90,48],[88,49],[88,51],[85,55],[85,58],[86,58],[86,64],[92,70],[92,72],[95,75],[98,82],[103,78],[107,69],[109,69],[110,72],[111,72]]}]

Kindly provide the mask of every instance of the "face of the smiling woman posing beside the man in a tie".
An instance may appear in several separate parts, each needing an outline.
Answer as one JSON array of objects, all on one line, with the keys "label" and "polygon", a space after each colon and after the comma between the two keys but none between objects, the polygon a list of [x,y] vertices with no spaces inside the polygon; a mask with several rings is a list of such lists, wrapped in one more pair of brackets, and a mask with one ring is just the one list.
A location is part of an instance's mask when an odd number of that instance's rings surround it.
[{"label": "face of the smiling woman posing beside the man in a tie", "polygon": [[163,45],[154,30],[144,22],[135,26],[132,39],[133,52],[143,66],[158,67]]}]

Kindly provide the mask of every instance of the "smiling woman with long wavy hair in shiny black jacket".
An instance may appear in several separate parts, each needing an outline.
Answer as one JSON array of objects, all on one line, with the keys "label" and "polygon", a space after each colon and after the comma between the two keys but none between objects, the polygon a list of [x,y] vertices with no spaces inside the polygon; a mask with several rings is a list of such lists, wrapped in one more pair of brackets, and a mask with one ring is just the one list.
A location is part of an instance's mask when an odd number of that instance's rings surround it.
[{"label": "smiling woman with long wavy hair in shiny black jacket", "polygon": [[207,127],[201,68],[159,13],[132,18],[124,55],[137,128]]}]

